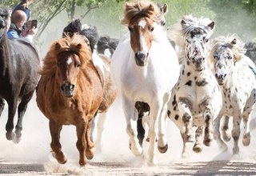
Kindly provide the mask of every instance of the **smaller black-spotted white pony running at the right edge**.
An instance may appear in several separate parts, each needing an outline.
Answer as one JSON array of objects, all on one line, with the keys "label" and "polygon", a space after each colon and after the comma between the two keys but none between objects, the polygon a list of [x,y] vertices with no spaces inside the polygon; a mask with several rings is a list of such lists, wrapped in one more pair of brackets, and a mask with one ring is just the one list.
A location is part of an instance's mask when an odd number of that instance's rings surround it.
[{"label": "smaller black-spotted white pony running at the right edge", "polygon": [[232,137],[234,139],[233,154],[239,153],[238,139],[240,123],[244,122],[242,144],[250,144],[250,114],[256,101],[256,68],[254,62],[245,55],[244,43],[238,35],[215,38],[210,52],[214,63],[215,77],[222,88],[223,107],[215,120],[215,135],[218,144],[225,150],[226,144],[220,138],[220,119],[224,115],[222,138],[230,141],[228,120],[233,116]]}]

